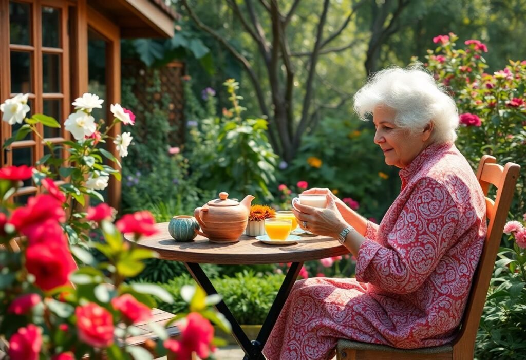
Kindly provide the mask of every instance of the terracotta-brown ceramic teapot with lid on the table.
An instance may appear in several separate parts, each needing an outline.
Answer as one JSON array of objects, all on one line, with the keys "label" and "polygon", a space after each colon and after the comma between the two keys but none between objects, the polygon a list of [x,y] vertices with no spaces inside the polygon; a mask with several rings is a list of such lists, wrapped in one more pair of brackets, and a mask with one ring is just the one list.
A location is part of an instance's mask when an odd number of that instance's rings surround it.
[{"label": "terracotta-brown ceramic teapot with lid on the table", "polygon": [[250,203],[255,198],[247,195],[238,202],[228,199],[228,192],[220,192],[219,199],[208,201],[194,210],[194,217],[201,227],[196,230],[211,242],[236,242],[245,231],[250,213]]}]

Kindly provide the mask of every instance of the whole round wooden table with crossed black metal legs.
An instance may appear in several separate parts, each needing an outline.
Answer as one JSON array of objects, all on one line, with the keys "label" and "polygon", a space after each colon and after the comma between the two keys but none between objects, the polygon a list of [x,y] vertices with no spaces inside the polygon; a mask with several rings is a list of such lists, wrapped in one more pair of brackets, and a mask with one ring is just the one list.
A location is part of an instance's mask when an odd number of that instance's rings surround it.
[{"label": "whole round wooden table with crossed black metal legs", "polygon": [[291,263],[256,340],[250,341],[248,339],[223,301],[216,305],[217,310],[225,315],[232,325],[232,335],[246,354],[244,359],[265,358],[261,351],[304,261],[325,259],[349,253],[345,246],[340,245],[336,239],[328,236],[302,234],[301,240],[291,245],[270,245],[247,235],[241,235],[238,242],[227,244],[210,242],[201,235],[197,235],[194,241],[177,242],[168,233],[168,222],[155,224],[155,227],[159,232],[139,240],[138,246],[156,251],[160,259],[184,262],[194,280],[203,287],[208,295],[217,294],[217,291],[199,264]]}]

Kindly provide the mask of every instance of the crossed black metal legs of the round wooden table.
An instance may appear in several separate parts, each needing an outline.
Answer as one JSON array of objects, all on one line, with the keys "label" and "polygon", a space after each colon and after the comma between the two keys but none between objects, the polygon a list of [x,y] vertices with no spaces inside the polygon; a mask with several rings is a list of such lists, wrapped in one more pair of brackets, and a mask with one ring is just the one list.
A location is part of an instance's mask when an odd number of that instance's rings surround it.
[{"label": "crossed black metal legs of the round wooden table", "polygon": [[[208,279],[208,276],[206,276],[205,272],[203,271],[203,269],[201,269],[201,266],[198,263],[185,263],[185,265],[192,277],[194,278],[194,280],[201,287],[203,287],[203,289],[208,295],[217,294],[214,285],[212,285],[212,283]],[[287,271],[287,274],[285,275],[285,280],[279,288],[278,294],[276,295],[276,299],[272,303],[270,311],[267,317],[265,318],[265,322],[261,326],[261,330],[259,331],[257,340],[255,341],[249,340],[249,338],[242,330],[241,326],[237,322],[234,315],[230,312],[230,309],[224,301],[221,300],[218,304],[216,304],[217,310],[221,314],[225,315],[226,319],[232,326],[232,335],[234,335],[237,343],[239,344],[239,346],[241,346],[241,349],[246,354],[243,360],[265,359],[261,351],[268,340],[270,332],[272,331],[272,327],[274,327],[274,324],[278,319],[283,305],[285,305],[285,301],[287,300],[287,297],[289,296],[289,293],[292,290],[292,286],[294,285],[294,282],[298,277],[299,271],[301,270],[301,266],[303,266],[303,262],[293,262],[290,265],[290,268]]]}]

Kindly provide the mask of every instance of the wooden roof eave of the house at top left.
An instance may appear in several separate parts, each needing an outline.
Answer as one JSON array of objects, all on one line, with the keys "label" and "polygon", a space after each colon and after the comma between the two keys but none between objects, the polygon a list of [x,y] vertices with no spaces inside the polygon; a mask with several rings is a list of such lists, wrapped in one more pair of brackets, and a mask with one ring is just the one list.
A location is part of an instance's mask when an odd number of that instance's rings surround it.
[{"label": "wooden roof eave of the house at top left", "polygon": [[90,0],[89,6],[120,28],[123,38],[170,38],[176,14],[155,0]]}]

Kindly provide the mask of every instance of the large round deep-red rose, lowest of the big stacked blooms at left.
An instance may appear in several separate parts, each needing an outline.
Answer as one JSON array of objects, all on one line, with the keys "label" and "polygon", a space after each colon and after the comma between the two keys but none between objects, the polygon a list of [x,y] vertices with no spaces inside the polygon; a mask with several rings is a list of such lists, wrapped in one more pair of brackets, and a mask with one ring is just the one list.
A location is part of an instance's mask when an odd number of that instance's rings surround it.
[{"label": "large round deep-red rose, lowest of the big stacked blooms at left", "polygon": [[67,284],[69,274],[76,267],[75,261],[64,243],[36,243],[27,246],[27,271],[35,275],[35,283],[42,290],[47,291]]}]

